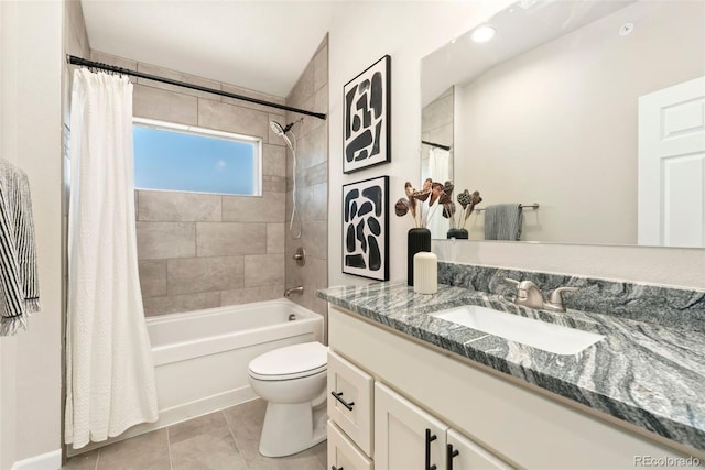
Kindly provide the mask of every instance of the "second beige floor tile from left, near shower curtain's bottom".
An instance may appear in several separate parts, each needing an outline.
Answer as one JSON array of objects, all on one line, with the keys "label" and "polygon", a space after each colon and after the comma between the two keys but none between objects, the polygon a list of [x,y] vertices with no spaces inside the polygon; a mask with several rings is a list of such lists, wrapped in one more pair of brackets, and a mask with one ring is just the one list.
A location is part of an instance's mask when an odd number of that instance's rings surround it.
[{"label": "second beige floor tile from left, near shower curtain's bottom", "polygon": [[132,437],[100,449],[97,470],[169,470],[166,429]]}]

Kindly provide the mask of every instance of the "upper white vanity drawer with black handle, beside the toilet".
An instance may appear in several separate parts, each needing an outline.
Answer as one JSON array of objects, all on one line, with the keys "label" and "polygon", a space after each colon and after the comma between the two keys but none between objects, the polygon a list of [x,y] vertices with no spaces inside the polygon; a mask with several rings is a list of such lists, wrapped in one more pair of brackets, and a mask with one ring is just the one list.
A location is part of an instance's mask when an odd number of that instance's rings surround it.
[{"label": "upper white vanity drawer with black handle, beside the toilet", "polygon": [[372,378],[328,351],[328,417],[372,455]]}]

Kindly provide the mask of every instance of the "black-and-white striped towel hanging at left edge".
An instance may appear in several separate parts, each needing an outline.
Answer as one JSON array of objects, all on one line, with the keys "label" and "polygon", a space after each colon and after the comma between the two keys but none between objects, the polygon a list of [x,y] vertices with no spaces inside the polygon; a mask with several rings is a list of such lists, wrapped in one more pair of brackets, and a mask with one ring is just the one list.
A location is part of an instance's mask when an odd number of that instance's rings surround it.
[{"label": "black-and-white striped towel hanging at left edge", "polygon": [[40,308],[30,184],[0,160],[0,336],[26,328],[28,315]]}]

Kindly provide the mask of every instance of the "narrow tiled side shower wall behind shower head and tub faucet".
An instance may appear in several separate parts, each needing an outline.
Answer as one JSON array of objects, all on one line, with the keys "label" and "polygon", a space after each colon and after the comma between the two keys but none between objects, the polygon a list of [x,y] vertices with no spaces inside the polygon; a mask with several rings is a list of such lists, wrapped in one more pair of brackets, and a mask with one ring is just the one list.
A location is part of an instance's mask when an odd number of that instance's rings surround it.
[{"label": "narrow tiled side shower wall behind shower head and tub faucet", "polygon": [[[328,111],[328,37],[326,36],[299,81],[286,98],[286,105],[316,112]],[[301,114],[288,112],[286,122],[301,119]],[[299,240],[289,233],[292,212],[293,155],[286,159],[286,286],[304,287],[303,295],[290,298],[324,318],[327,304],[316,297],[316,289],[328,286],[328,125],[327,121],[304,117],[292,131],[296,136],[296,209],[303,231]],[[296,226],[297,227],[297,226]],[[293,255],[299,247],[306,251],[306,264],[296,265]]]}]

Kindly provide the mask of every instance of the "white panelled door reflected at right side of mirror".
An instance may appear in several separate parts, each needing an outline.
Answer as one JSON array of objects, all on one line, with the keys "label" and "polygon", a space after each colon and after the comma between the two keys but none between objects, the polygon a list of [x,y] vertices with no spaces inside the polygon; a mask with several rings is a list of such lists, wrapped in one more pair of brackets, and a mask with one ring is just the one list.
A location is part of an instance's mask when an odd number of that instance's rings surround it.
[{"label": "white panelled door reflected at right side of mirror", "polygon": [[705,77],[639,98],[639,244],[705,248]]}]

